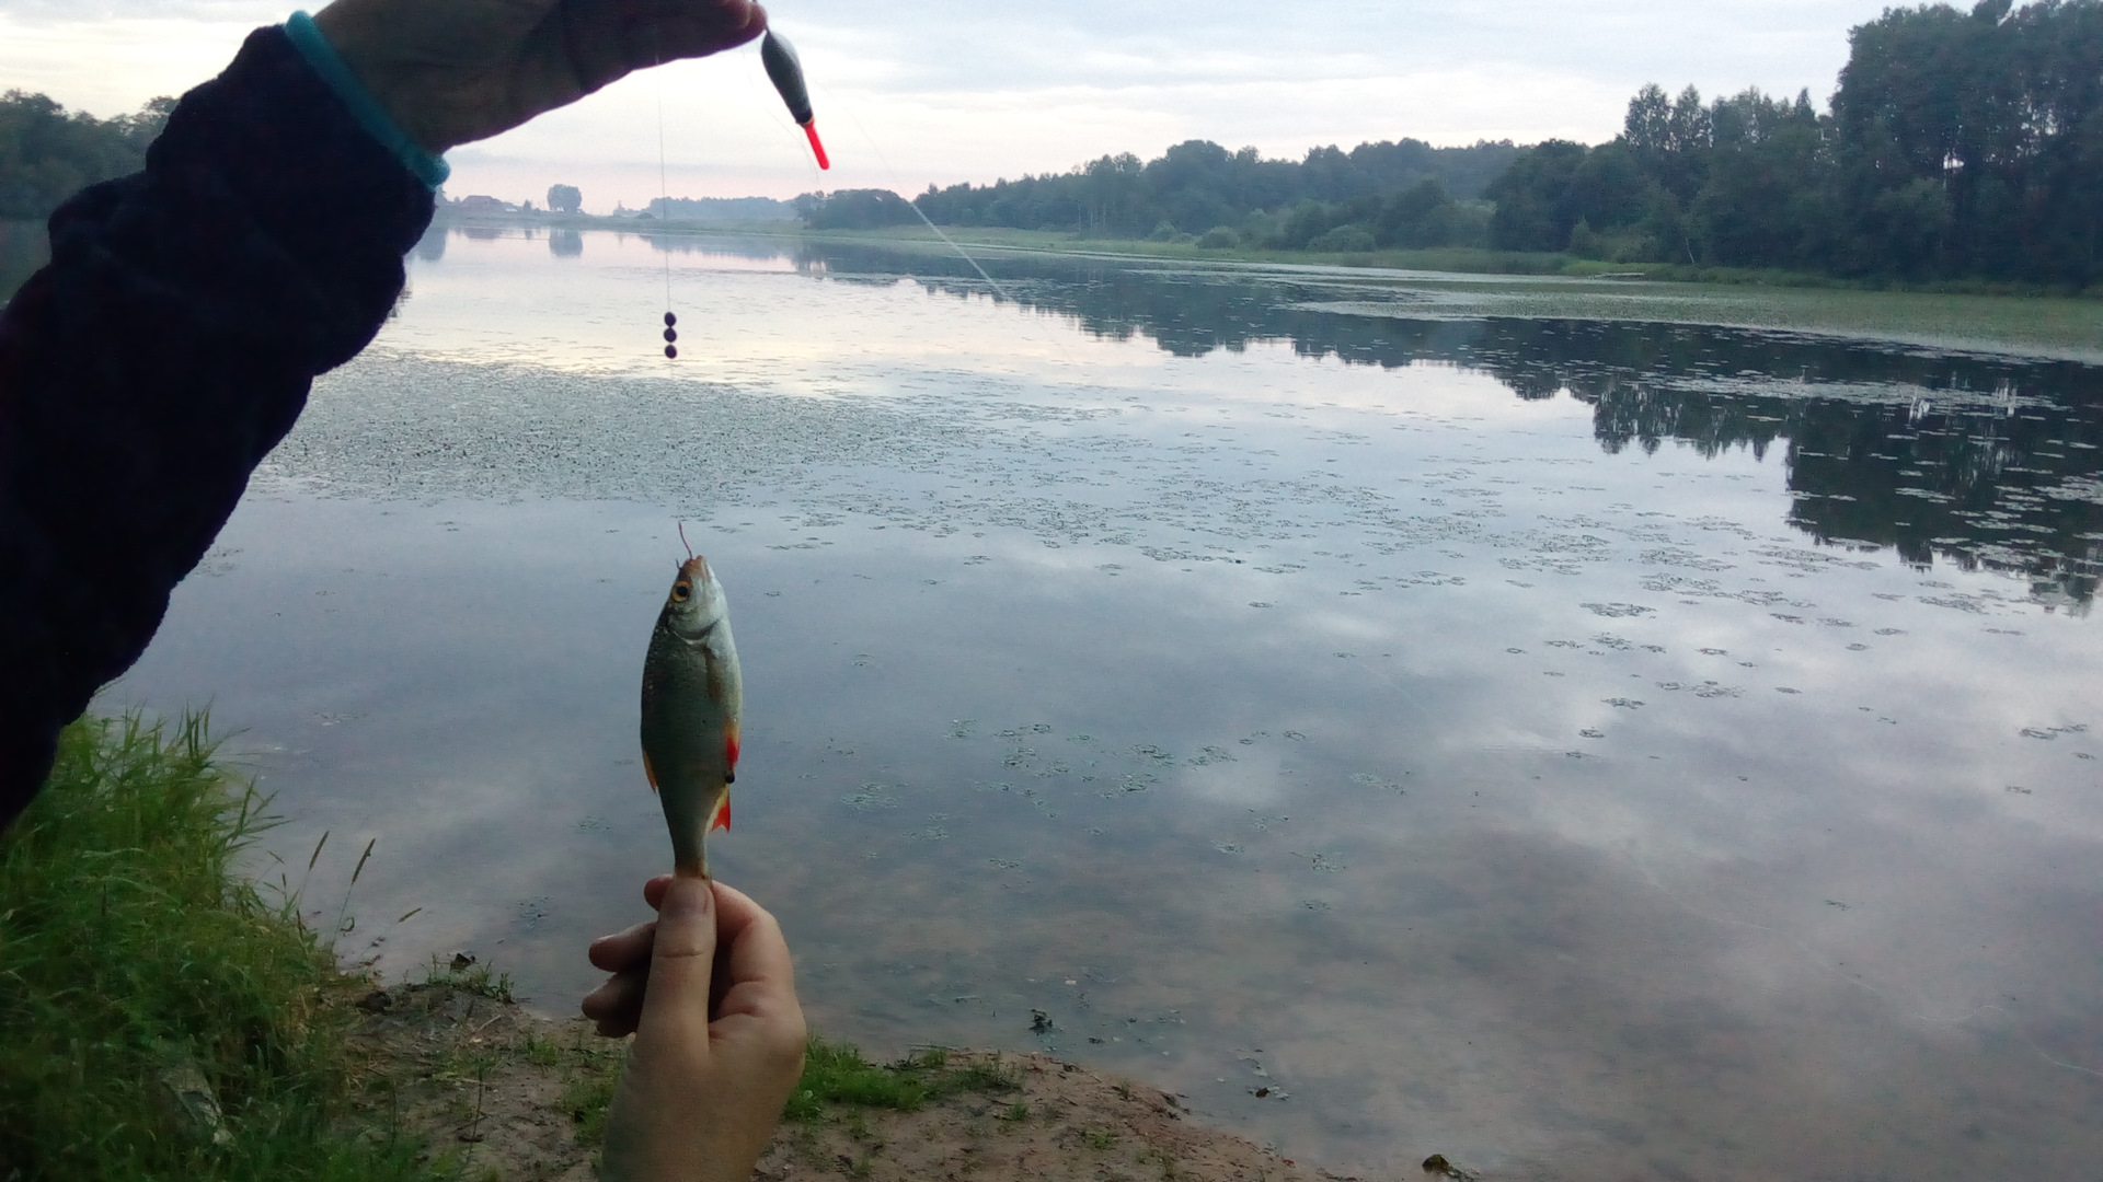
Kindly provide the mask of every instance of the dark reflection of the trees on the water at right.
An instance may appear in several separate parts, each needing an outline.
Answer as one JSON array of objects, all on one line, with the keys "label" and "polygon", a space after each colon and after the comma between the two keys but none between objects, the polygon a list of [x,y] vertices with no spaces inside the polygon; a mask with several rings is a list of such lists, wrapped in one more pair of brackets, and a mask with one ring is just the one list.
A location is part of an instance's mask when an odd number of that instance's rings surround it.
[{"label": "dark reflection of the trees on the water at right", "polygon": [[[898,269],[896,254],[805,246],[805,269]],[[1594,406],[1594,435],[1619,450],[1666,440],[1703,454],[1788,442],[1790,519],[1819,541],[1895,547],[1922,568],[2017,570],[2042,602],[2086,608],[2103,574],[2103,368],[1933,353],[1859,341],[1685,324],[1407,320],[1312,311],[1335,280],[1291,284],[1157,267],[1020,265],[991,259],[1024,307],[1073,315],[1102,339],[1148,337],[1203,358],[1289,341],[1304,358],[1401,368],[1453,364],[1518,398]],[[953,271],[961,261],[911,259]],[[1058,282],[1047,282],[1047,271]],[[930,292],[984,294],[974,278],[921,278]]]}]

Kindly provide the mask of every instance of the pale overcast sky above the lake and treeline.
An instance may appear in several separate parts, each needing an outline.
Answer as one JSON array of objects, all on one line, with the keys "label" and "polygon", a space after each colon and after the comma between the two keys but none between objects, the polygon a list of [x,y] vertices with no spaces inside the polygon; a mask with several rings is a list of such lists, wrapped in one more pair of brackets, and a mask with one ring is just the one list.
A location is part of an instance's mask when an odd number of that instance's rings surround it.
[{"label": "pale overcast sky above the lake and treeline", "polygon": [[[751,48],[618,82],[452,154],[448,191],[585,206],[793,196],[1056,172],[1184,139],[1298,158],[1415,137],[1596,143],[1645,82],[1703,95],[1809,88],[1823,105],[1846,32],[1882,0],[778,0],[835,168],[820,175]],[[0,90],[97,116],[217,74],[252,0],[0,0]],[[662,76],[662,78],[660,78]]]}]

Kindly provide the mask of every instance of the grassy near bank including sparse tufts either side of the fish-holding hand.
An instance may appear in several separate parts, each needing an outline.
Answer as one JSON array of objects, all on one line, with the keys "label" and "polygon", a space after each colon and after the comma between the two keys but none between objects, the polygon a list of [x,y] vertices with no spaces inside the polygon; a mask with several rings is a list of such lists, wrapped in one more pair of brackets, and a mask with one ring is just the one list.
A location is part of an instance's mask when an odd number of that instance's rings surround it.
[{"label": "grassy near bank including sparse tufts either side of the fish-holding hand", "polygon": [[[67,728],[0,833],[0,1182],[484,1182],[543,1176],[536,1148],[589,1157],[625,1047],[526,1016],[488,965],[391,991],[345,974],[294,898],[238,871],[263,806],[202,719]],[[501,1108],[496,1079],[522,1073],[538,1087]],[[856,1132],[1018,1087],[997,1058],[873,1064],[814,1039],[784,1117]],[[505,1115],[547,1144],[486,1144]]]}]

